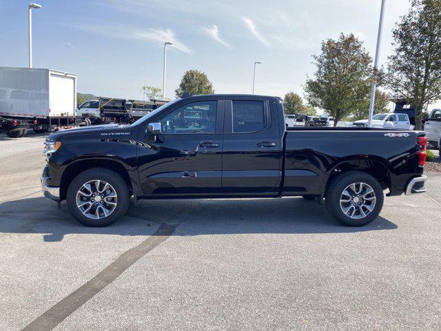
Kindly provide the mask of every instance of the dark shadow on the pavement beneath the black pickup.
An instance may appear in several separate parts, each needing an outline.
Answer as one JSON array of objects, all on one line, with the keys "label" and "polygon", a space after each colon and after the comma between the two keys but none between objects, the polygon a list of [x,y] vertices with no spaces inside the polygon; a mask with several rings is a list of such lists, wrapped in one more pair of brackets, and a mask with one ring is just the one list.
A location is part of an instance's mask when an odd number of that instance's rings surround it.
[{"label": "dark shadow on the pavement beneath the black pickup", "polygon": [[369,225],[349,228],[329,216],[324,205],[302,198],[144,200],[130,205],[125,217],[105,228],[78,223],[65,203],[61,210],[43,197],[0,203],[0,233],[42,234],[46,242],[68,234],[151,236],[162,223],[178,224],[172,236],[209,234],[311,234],[393,230],[378,217]]}]

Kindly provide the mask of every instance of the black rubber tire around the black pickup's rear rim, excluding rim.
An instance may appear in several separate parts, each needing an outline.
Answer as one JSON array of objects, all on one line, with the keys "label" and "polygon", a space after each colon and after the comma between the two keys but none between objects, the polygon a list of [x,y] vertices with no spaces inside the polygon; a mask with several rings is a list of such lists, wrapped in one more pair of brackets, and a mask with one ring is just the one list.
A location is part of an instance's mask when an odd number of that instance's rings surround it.
[{"label": "black rubber tire around the black pickup's rear rim, excluding rim", "polygon": [[[343,190],[345,190],[348,185],[358,182],[367,183],[373,188],[373,191],[376,194],[376,205],[367,217],[362,219],[351,219],[341,210],[340,197]],[[384,193],[380,183],[378,183],[378,181],[370,174],[365,174],[363,172],[351,172],[346,175],[340,174],[329,186],[325,198],[326,207],[329,210],[329,213],[337,219],[337,221],[347,226],[362,226],[371,223],[378,217],[378,214],[380,214],[383,202]]]}]

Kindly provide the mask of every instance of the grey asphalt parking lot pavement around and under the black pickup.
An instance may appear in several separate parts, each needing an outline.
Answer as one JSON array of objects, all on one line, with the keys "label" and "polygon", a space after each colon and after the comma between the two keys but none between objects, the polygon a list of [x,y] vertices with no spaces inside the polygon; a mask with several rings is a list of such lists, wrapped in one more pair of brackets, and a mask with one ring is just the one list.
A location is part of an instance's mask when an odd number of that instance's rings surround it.
[{"label": "grey asphalt parking lot pavement around and under the black pickup", "polygon": [[345,228],[301,198],[141,201],[86,228],[0,134],[0,329],[440,330],[441,174]]}]

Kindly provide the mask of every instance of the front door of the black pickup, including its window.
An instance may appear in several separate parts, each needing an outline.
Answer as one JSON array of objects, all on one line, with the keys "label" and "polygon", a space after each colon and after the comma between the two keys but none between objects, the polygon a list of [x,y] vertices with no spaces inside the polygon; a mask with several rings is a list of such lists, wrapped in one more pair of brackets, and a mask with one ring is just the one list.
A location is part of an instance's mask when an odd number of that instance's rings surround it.
[{"label": "front door of the black pickup, including its window", "polygon": [[161,134],[152,138],[141,130],[138,165],[144,195],[220,192],[223,105],[217,99],[180,103],[155,119]]}]

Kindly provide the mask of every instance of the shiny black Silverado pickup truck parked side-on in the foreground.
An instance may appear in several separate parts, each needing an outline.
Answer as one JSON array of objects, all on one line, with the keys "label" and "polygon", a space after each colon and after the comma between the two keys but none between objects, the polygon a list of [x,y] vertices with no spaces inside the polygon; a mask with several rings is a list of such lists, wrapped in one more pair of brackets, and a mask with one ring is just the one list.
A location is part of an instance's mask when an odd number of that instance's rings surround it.
[{"label": "shiny black Silverado pickup truck parked side-on in the foreground", "polygon": [[[276,97],[176,99],[132,125],[51,134],[41,183],[81,223],[104,226],[134,199],[298,196],[360,226],[387,195],[424,192],[424,132],[286,128]],[[295,215],[292,215],[295,217]]]}]

